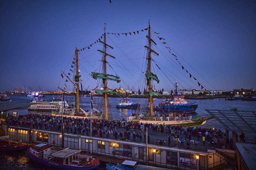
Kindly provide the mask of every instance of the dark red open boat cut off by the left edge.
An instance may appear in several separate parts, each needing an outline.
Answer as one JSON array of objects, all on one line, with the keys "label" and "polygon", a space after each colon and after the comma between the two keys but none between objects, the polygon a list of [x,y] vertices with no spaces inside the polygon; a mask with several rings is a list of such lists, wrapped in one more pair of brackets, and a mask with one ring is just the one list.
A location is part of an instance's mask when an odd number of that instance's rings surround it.
[{"label": "dark red open boat cut off by the left edge", "polygon": [[9,136],[0,137],[0,150],[2,151],[19,151],[26,148],[20,139],[9,138]]}]

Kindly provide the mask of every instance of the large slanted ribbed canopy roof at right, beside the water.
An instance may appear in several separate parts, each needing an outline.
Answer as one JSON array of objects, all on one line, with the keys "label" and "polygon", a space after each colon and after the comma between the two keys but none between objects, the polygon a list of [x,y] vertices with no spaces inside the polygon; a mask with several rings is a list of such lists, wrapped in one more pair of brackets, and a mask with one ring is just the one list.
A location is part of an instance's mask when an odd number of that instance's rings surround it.
[{"label": "large slanted ribbed canopy roof at right, beside the water", "polygon": [[205,110],[230,131],[256,133],[256,111]]}]

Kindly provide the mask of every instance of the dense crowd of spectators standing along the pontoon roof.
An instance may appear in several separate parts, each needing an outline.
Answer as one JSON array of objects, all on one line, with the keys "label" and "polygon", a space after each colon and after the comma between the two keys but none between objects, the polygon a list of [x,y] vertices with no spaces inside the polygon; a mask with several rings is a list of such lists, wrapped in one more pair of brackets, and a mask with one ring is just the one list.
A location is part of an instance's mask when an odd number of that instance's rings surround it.
[{"label": "dense crowd of spectators standing along the pontoon roof", "polygon": [[[184,115],[186,116],[186,115]],[[225,133],[220,129],[214,128],[197,128],[197,127],[186,127],[186,126],[170,126],[170,125],[162,125],[162,124],[142,124],[142,123],[133,123],[126,121],[106,121],[106,120],[92,120],[87,118],[79,118],[74,119],[71,117],[58,117],[52,115],[39,115],[39,114],[27,114],[27,115],[19,115],[18,117],[14,117],[12,115],[8,115],[9,123],[13,126],[21,126],[21,127],[30,127],[30,121],[32,120],[33,128],[43,129],[43,130],[51,130],[51,131],[61,131],[62,121],[64,123],[64,131],[66,133],[75,133],[82,135],[90,135],[92,132],[92,136],[102,137],[103,134],[107,138],[115,138],[120,140],[127,141],[136,141],[142,142],[142,138],[144,137],[144,141],[146,142],[146,138],[150,139],[149,134],[142,134],[148,128],[148,131],[151,131],[154,134],[159,132],[165,133],[168,136],[168,145],[170,146],[171,140],[177,144],[180,144],[180,147],[184,146],[184,142],[187,144],[187,148],[192,148],[195,143],[200,142],[200,138],[202,138],[203,145],[207,142],[208,145],[212,145],[212,147],[221,147],[228,148],[232,147],[232,138],[225,136]],[[90,128],[92,125],[92,129]],[[123,128],[124,133],[121,131],[117,131],[117,128]],[[90,131],[91,129],[91,131]],[[134,132],[131,134],[130,130],[137,129],[138,132]],[[145,133],[145,132],[144,132]],[[180,137],[181,136],[181,137]],[[240,141],[244,140],[244,133],[240,134]],[[236,137],[236,141],[238,141],[238,136]],[[163,141],[162,141],[163,142]],[[159,141],[159,143],[161,143]],[[230,146],[231,145],[231,146]]]}]

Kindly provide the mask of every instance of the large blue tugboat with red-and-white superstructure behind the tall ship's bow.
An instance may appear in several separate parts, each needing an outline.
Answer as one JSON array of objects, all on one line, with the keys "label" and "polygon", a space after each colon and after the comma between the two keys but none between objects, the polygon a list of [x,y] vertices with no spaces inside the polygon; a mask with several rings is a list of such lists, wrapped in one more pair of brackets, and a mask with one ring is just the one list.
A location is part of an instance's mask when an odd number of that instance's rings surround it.
[{"label": "large blue tugboat with red-and-white superstructure behind the tall ship's bow", "polygon": [[155,111],[170,111],[170,112],[195,112],[197,103],[190,103],[184,99],[184,95],[178,95],[177,82],[175,83],[175,95],[172,100],[167,100],[164,103],[159,103],[158,106],[153,106]]}]

